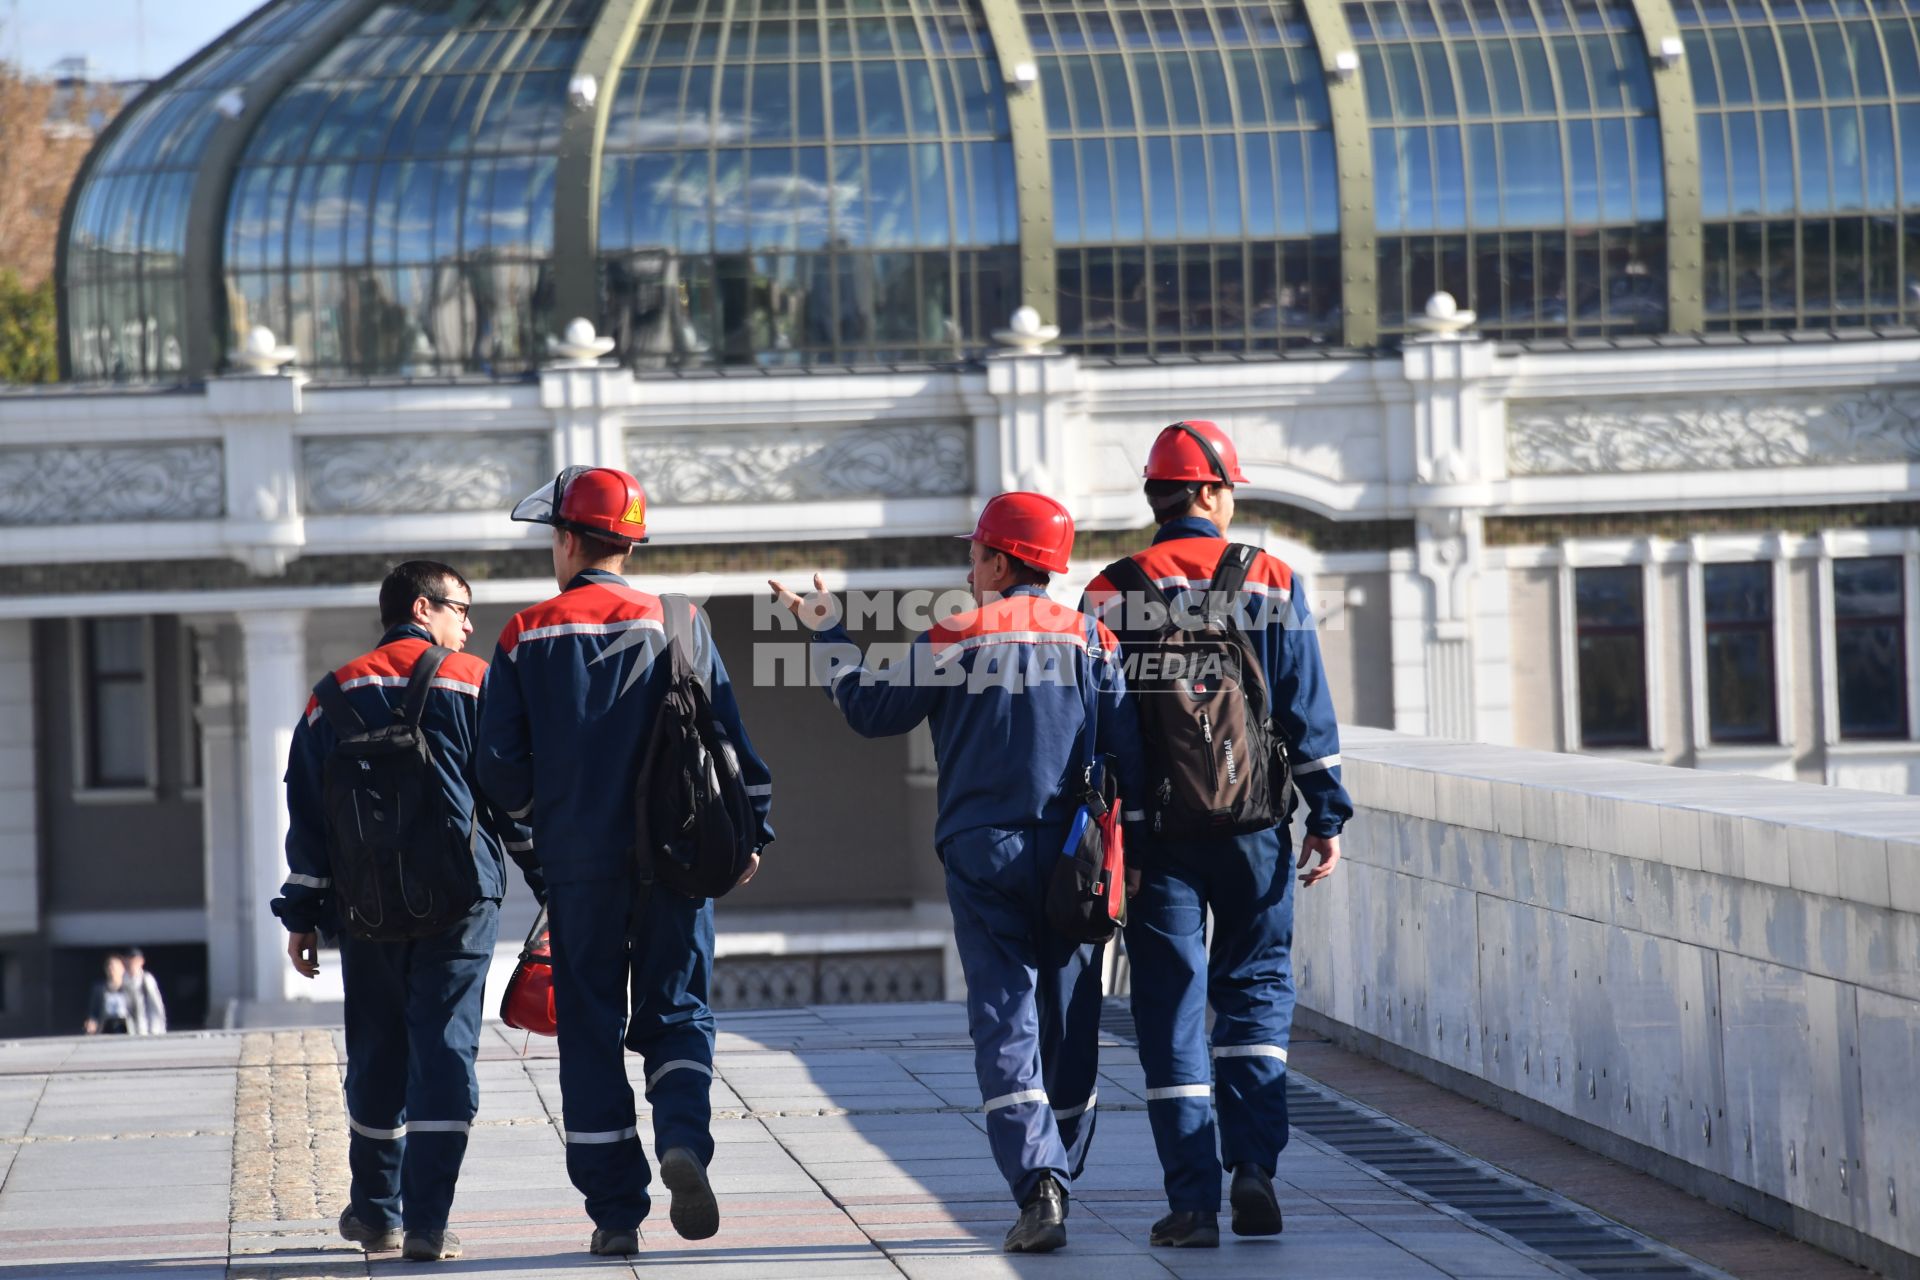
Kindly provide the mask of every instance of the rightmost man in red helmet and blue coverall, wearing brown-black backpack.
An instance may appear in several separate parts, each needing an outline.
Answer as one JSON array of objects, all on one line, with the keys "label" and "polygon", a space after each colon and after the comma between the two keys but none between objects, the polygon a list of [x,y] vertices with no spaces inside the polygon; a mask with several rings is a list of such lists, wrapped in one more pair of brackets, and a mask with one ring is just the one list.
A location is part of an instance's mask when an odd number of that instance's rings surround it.
[{"label": "rightmost man in red helmet and blue coverall, wearing brown-black backpack", "polygon": [[[1190,608],[1206,593],[1229,545],[1233,486],[1244,482],[1233,441],[1212,422],[1181,422],[1154,441],[1146,501],[1160,532],[1133,560],[1175,608]],[[1306,800],[1298,865],[1315,862],[1300,877],[1311,887],[1332,875],[1340,827],[1354,814],[1340,787],[1340,727],[1300,576],[1260,553],[1244,591],[1240,616],[1250,622],[1248,639],[1267,679],[1273,729]],[[1102,574],[1081,606],[1119,626],[1114,610],[1125,601]],[[1279,796],[1273,808],[1277,816],[1288,812]],[[1286,1046],[1294,1021],[1294,877],[1284,823],[1194,841],[1135,837],[1129,827],[1129,858],[1142,873],[1127,915],[1133,1019],[1171,1209],[1154,1222],[1150,1240],[1219,1245],[1223,1165],[1233,1171],[1235,1234],[1279,1234],[1273,1171],[1286,1146]]]}]

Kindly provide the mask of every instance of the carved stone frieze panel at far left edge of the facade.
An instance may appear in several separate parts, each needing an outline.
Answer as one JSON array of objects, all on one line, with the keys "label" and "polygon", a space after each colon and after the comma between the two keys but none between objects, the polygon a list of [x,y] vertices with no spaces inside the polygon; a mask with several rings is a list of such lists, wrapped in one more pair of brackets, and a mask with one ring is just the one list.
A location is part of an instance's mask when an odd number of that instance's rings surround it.
[{"label": "carved stone frieze panel at far left edge of the facade", "polygon": [[211,441],[0,449],[0,526],[219,520],[225,510]]}]

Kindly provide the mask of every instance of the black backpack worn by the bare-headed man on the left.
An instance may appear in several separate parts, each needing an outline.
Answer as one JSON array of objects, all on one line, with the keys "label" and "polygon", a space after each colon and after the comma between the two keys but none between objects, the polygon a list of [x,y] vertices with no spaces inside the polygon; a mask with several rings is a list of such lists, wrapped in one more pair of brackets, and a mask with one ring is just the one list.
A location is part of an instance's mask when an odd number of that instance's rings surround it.
[{"label": "black backpack worn by the bare-headed man on the left", "polygon": [[413,664],[399,720],[369,727],[332,672],[313,687],[340,741],[326,756],[326,848],[340,923],[357,938],[403,942],[457,925],[480,902],[474,841],[461,827],[420,731],[426,695],[449,649]]}]

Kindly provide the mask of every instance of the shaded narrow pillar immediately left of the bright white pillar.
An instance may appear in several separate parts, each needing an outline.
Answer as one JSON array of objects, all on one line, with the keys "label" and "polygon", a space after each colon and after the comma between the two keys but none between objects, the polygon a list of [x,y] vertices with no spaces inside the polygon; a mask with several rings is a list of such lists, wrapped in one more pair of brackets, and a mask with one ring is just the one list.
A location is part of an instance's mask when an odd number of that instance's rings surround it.
[{"label": "shaded narrow pillar immediately left of the bright white pillar", "polygon": [[207,1025],[225,1025],[244,994],[253,938],[253,879],[246,856],[246,676],[230,614],[182,618],[200,674],[200,821],[207,887]]}]

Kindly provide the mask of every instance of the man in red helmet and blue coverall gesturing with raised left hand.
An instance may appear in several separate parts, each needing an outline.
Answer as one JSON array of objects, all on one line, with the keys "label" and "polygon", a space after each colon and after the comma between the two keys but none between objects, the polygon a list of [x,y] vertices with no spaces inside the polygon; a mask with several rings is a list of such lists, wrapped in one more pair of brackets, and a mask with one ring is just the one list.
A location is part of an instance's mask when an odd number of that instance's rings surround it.
[{"label": "man in red helmet and blue coverall gesturing with raised left hand", "polygon": [[[816,628],[814,666],[866,737],[927,722],[939,762],[935,842],[968,988],[987,1140],[1020,1219],[1008,1253],[1066,1244],[1068,1186],[1087,1161],[1098,1071],[1100,948],[1046,921],[1046,881],[1068,842],[1087,762],[1108,756],[1121,794],[1140,785],[1139,720],[1098,622],[1046,599],[1068,568],[1073,520],[1039,493],[1002,493],[972,535],[979,608],[868,670],[814,578],[780,601]],[[1092,741],[1089,743],[1089,735]]]}]

